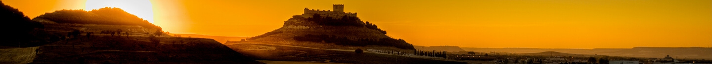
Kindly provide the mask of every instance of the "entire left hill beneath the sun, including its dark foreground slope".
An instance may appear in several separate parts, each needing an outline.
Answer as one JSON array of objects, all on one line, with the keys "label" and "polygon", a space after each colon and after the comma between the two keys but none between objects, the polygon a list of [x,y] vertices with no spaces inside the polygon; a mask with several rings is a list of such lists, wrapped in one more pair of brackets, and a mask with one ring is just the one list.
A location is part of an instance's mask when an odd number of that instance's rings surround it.
[{"label": "entire left hill beneath the sun, including its dark foreground slope", "polygon": [[[43,28],[31,27],[32,32],[29,35],[35,37],[36,41],[45,43],[33,47],[18,46],[15,48],[6,48],[8,46],[3,44],[3,48],[0,49],[2,53],[0,62],[261,63],[211,39],[171,37],[163,33],[158,26],[153,26],[148,22],[136,22],[137,17],[135,16],[96,13],[124,12],[120,9],[100,10],[93,13],[86,11],[62,13],[65,11],[58,11],[43,15],[44,17],[34,18],[33,21],[41,22]],[[71,16],[89,13],[99,16]],[[70,17],[55,17],[63,19],[63,21],[55,20],[55,22],[47,20],[47,16]],[[5,17],[3,16],[3,20],[6,20]],[[112,23],[110,20],[117,23]],[[29,19],[25,19],[25,21],[29,21]],[[28,27],[15,26],[11,28]],[[3,33],[5,32],[3,31]],[[2,38],[1,40],[13,39],[23,38]]]}]

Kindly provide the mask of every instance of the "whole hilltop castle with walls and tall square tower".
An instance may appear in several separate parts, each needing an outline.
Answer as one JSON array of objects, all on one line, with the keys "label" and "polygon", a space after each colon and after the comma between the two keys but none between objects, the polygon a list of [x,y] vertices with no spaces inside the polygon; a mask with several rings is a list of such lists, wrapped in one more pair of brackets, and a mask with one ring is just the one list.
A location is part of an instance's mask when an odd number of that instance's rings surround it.
[{"label": "whole hilltop castle with walls and tall square tower", "polygon": [[314,14],[319,14],[320,16],[329,16],[333,18],[341,18],[341,16],[356,16],[357,13],[350,13],[350,12],[344,12],[344,5],[343,4],[335,4],[334,5],[334,11],[331,10],[319,10],[319,9],[307,9],[304,8],[304,18],[311,18],[314,16]]}]

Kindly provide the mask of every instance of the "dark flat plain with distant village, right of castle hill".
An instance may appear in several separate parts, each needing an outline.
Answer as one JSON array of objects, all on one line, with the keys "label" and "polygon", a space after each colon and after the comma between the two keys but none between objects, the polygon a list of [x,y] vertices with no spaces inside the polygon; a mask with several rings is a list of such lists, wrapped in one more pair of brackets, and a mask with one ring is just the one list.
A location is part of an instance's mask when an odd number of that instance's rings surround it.
[{"label": "dark flat plain with distant village, right of castle hill", "polygon": [[[416,58],[430,58],[441,60],[458,60],[478,64],[712,64],[711,60],[681,60],[670,55],[662,58],[636,58],[609,55],[595,55],[582,57],[582,55],[517,55],[515,53],[498,52],[467,52],[466,54],[446,51],[421,51],[403,53],[402,51],[372,50],[375,53],[404,55]],[[464,52],[464,51],[461,51]],[[423,55],[425,53],[426,55]],[[444,55],[439,55],[445,53]]]}]

